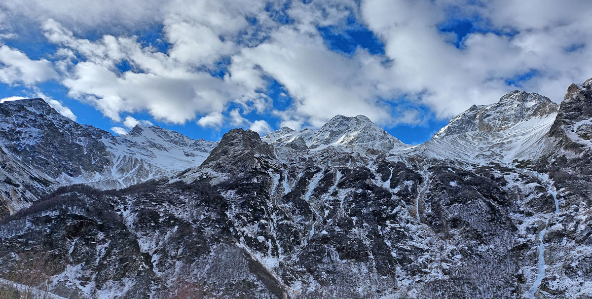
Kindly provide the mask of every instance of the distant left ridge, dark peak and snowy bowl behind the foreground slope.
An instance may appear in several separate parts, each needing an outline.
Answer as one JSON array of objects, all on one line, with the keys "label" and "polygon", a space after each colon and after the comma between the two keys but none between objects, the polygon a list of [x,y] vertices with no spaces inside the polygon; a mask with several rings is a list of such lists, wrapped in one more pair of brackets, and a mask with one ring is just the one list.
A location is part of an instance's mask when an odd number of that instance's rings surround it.
[{"label": "distant left ridge, dark peak and snowy bowl behind the foreground slope", "polygon": [[0,104],[2,149],[57,185],[124,188],[200,165],[217,142],[160,127],[121,136],[63,117],[43,99]]}]

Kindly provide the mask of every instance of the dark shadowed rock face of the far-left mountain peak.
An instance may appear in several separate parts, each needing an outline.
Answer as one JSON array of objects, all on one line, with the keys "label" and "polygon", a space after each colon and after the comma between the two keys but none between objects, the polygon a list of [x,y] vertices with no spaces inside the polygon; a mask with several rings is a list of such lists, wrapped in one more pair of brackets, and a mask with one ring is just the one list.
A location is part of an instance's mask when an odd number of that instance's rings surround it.
[{"label": "dark shadowed rock face of the far-left mountain peak", "polygon": [[101,172],[110,165],[100,142],[111,134],[58,114],[43,99],[0,104],[0,139],[6,152],[52,178]]}]

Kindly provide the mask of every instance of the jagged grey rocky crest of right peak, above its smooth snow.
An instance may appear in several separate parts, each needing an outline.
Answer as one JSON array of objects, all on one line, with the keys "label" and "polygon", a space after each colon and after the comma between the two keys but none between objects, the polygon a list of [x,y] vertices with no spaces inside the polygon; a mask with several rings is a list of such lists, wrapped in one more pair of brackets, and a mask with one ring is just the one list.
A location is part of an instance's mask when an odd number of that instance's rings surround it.
[{"label": "jagged grey rocky crest of right peak, above its smooth snow", "polygon": [[504,131],[532,118],[552,117],[558,111],[551,99],[536,93],[512,91],[491,105],[472,105],[452,118],[434,138],[469,131]]}]

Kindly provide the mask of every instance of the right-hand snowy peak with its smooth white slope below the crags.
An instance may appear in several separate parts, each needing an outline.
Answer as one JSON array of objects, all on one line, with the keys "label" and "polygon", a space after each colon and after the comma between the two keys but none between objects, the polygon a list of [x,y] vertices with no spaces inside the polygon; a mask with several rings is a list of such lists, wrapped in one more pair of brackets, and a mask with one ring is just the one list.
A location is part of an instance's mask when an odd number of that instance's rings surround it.
[{"label": "right-hand snowy peak with its smooth white slope below the crags", "polygon": [[558,109],[539,94],[513,91],[496,104],[473,105],[415,150],[481,165],[535,159],[554,149],[548,133]]}]

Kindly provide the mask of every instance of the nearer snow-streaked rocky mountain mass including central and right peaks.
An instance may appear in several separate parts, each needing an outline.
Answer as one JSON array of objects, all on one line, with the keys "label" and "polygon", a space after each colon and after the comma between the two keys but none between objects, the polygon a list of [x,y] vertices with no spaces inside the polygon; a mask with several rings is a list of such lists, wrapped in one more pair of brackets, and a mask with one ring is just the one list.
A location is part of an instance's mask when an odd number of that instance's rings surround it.
[{"label": "nearer snow-streaked rocky mountain mass including central and right peaks", "polygon": [[592,298],[590,83],[559,107],[511,92],[419,146],[361,115],[234,129],[172,178],[5,217],[0,270],[51,252],[52,291],[82,298]]}]

